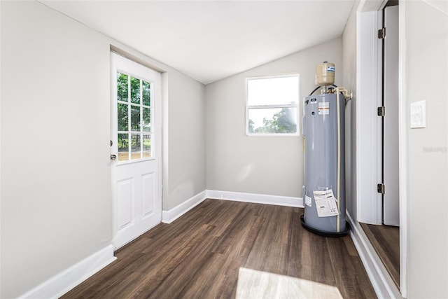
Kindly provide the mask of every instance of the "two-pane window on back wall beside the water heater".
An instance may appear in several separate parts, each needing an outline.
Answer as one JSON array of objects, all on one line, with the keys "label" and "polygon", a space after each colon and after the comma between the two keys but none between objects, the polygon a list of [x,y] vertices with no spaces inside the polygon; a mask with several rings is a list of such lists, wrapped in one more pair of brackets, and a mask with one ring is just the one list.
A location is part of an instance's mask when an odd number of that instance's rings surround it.
[{"label": "two-pane window on back wall beside the water heater", "polygon": [[298,74],[246,78],[246,135],[297,135],[298,103]]}]

